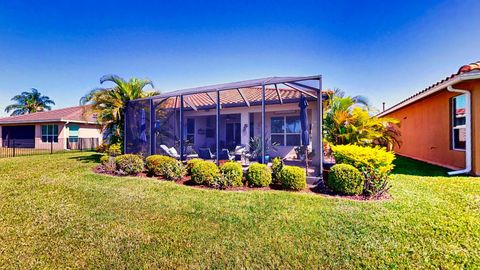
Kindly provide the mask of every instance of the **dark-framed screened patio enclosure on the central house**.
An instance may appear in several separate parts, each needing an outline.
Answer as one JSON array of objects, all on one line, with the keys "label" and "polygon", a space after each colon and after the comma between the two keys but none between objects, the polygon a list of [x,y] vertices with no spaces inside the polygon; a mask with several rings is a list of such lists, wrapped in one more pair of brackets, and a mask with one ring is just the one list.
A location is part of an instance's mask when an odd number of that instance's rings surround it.
[{"label": "dark-framed screened patio enclosure on the central house", "polygon": [[[215,154],[218,143],[219,150],[228,149],[233,153],[238,146],[248,149],[250,139],[262,137],[263,133],[269,142],[279,145],[278,151],[266,151],[267,154],[295,159],[295,147],[301,145],[299,102],[303,95],[308,101],[306,132],[310,138],[310,149],[315,151],[312,164],[320,165],[322,144],[318,120],[321,116],[317,102],[320,95],[319,80],[319,76],[273,77],[166,92],[134,101],[127,110],[126,152],[161,153],[162,144],[175,147],[180,152],[180,135],[183,132],[184,145],[191,146],[197,152],[200,148],[209,148]],[[262,84],[265,85],[264,108]],[[183,120],[180,117],[181,100],[184,107]],[[149,127],[149,119],[153,117],[150,115],[149,102],[156,109],[152,127]],[[262,115],[265,117],[264,122]],[[142,136],[142,122],[147,126],[146,136]],[[156,136],[151,137],[150,130]]]}]

